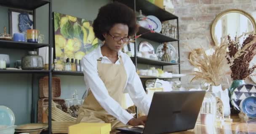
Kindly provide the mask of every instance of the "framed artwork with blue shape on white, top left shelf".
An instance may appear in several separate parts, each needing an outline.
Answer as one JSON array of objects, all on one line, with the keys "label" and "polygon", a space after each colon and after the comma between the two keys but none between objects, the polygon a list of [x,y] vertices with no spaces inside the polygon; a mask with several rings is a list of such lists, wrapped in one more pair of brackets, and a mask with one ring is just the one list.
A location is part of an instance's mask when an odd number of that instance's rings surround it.
[{"label": "framed artwork with blue shape on white, top left shelf", "polygon": [[28,10],[9,9],[9,33],[22,33],[33,29],[33,12]]}]

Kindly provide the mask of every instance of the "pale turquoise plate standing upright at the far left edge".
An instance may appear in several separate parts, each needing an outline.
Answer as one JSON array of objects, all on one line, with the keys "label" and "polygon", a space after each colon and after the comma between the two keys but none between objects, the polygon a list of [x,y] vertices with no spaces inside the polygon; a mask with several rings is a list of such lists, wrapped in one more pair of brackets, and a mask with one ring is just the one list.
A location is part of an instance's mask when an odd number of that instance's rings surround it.
[{"label": "pale turquoise plate standing upright at the far left edge", "polygon": [[15,124],[15,116],[13,111],[6,106],[0,106],[0,125],[13,126]]}]

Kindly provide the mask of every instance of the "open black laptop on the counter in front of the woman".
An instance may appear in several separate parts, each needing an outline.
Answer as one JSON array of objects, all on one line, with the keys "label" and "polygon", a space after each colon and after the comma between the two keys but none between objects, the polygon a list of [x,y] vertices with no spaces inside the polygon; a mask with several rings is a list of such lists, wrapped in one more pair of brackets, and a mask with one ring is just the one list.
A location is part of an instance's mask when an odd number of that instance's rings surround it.
[{"label": "open black laptop on the counter in front of the woman", "polygon": [[122,127],[128,134],[165,134],[194,129],[205,91],[155,92],[145,127]]}]

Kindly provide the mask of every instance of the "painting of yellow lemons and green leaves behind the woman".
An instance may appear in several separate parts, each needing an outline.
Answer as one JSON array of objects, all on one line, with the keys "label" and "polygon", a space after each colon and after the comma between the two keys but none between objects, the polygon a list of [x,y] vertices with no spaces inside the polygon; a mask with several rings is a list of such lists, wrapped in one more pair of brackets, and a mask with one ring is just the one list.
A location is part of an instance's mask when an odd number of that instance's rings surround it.
[{"label": "painting of yellow lemons and green leaves behind the woman", "polygon": [[98,47],[92,22],[71,15],[54,12],[54,52],[58,64],[66,59],[82,59]]}]

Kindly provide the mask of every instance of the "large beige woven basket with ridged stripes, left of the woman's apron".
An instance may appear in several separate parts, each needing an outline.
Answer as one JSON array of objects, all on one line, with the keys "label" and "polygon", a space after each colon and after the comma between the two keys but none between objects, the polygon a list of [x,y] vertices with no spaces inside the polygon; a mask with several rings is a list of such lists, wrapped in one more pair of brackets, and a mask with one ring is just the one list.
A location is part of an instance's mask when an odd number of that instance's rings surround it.
[{"label": "large beige woven basket with ridged stripes, left of the woman's apron", "polygon": [[[61,111],[56,107],[56,103],[53,101],[51,106],[52,133],[68,133],[69,126],[76,124],[77,119],[70,116],[68,113],[65,113],[64,111]],[[45,113],[48,115],[48,111],[45,111]]]}]

